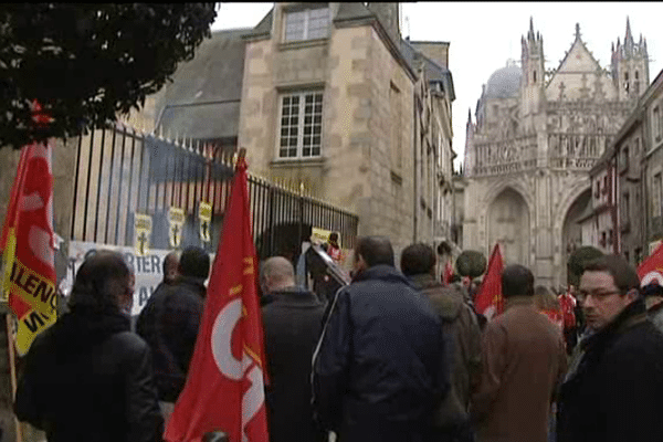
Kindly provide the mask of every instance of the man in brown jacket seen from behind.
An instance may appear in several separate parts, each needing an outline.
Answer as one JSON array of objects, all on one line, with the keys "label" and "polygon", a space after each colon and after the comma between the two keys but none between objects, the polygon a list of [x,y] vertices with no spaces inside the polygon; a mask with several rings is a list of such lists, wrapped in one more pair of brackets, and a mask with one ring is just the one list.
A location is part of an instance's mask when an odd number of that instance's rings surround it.
[{"label": "man in brown jacket seen from behind", "polygon": [[480,442],[546,442],[550,404],[567,368],[561,334],[533,306],[534,275],[502,273],[504,314],[483,335],[483,373],[472,417]]}]

